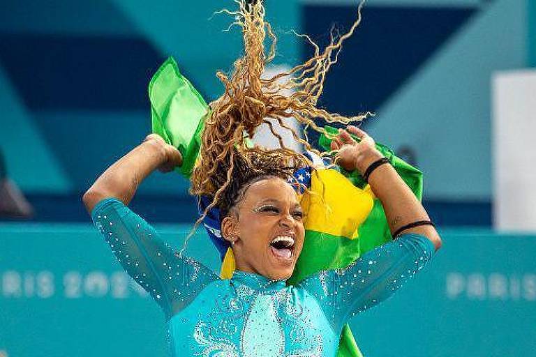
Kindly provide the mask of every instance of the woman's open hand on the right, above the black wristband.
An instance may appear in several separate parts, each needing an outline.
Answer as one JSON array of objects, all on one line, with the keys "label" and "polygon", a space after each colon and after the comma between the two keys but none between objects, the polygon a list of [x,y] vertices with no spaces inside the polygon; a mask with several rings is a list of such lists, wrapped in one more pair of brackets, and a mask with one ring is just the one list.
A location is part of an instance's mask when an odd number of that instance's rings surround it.
[{"label": "woman's open hand on the right, above the black wristband", "polygon": [[[359,142],[348,132],[359,137]],[[339,129],[338,135],[332,140],[332,150],[338,150],[336,164],[347,171],[357,169],[360,174],[365,172],[368,165],[383,157],[376,149],[374,139],[356,126],[347,126],[346,130]]]}]

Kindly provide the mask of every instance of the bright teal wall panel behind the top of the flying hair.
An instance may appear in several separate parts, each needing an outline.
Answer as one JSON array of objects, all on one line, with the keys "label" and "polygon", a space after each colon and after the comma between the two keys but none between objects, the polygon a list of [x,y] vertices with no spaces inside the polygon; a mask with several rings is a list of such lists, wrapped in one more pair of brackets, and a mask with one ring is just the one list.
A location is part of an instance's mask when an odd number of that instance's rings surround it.
[{"label": "bright teal wall panel behind the top of the flying hair", "polygon": [[[233,1],[111,1],[162,54],[177,59],[179,67],[207,96],[207,100],[221,95],[223,87],[215,76],[216,70],[230,70],[233,61],[241,54],[242,44],[238,26],[225,31],[234,18],[215,13],[223,8],[234,10],[236,4]],[[297,38],[290,31],[299,32],[298,2],[268,1],[267,18],[272,21],[279,36],[280,56],[275,63],[297,63],[299,47]]]}]

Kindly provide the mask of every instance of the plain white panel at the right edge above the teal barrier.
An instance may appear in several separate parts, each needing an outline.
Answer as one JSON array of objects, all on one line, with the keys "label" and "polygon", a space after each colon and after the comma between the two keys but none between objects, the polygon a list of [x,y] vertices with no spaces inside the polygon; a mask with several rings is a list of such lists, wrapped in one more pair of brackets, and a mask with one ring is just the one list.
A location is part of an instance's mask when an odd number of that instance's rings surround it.
[{"label": "plain white panel at the right edge above the teal barrier", "polygon": [[536,70],[493,78],[494,225],[536,230]]}]

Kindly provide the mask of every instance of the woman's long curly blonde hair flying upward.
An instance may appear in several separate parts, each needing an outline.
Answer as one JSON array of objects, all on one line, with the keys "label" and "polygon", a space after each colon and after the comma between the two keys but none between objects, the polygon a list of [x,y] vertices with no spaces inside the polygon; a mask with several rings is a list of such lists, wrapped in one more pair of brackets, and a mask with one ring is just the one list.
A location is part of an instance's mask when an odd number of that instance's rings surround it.
[{"label": "woman's long curly blonde hair flying upward", "polygon": [[[331,41],[323,51],[320,51],[320,47],[309,36],[297,35],[314,47],[314,55],[288,72],[278,73],[267,79],[262,75],[266,66],[276,56],[277,38],[269,22],[265,20],[265,7],[262,1],[249,3],[246,0],[234,0],[234,3],[237,3],[237,10],[224,9],[218,13],[232,15],[235,19],[233,24],[241,27],[244,55],[234,62],[234,70],[230,76],[221,71],[216,73],[225,86],[225,92],[210,104],[212,111],[204,123],[202,146],[191,176],[190,190],[192,195],[212,197],[212,202],[195,223],[195,227],[214,206],[228,206],[229,203],[225,203],[225,191],[230,188],[232,181],[237,180],[240,173],[244,172],[244,165],[258,175],[266,174],[263,172],[264,167],[270,167],[271,176],[282,178],[292,175],[292,171],[298,167],[313,165],[304,154],[292,151],[283,144],[281,135],[276,132],[269,119],[289,130],[304,149],[322,156],[327,153],[320,153],[311,147],[307,142],[306,129],[311,128],[328,137],[332,135],[318,126],[315,119],[347,125],[350,122],[362,121],[367,116],[366,113],[348,117],[327,112],[317,106],[329,68],[336,63],[343,41],[352,36],[361,21],[363,3],[359,5],[357,20],[349,31],[339,36],[332,30]],[[267,37],[268,53],[265,52]],[[305,139],[289,125],[292,118],[303,125]],[[248,145],[248,139],[253,137],[255,130],[262,123],[267,124],[281,148],[267,150]],[[274,162],[277,165],[274,165]]]}]

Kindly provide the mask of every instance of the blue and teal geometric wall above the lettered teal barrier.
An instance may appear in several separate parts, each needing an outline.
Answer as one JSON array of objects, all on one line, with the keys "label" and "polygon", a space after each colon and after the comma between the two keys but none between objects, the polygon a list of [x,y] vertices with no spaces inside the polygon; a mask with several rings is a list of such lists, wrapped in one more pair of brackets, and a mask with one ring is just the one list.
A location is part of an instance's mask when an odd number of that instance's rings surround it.
[{"label": "blue and teal geometric wall above the lettered teal barrier", "polygon": [[[216,70],[230,70],[241,46],[236,27],[222,31],[231,19],[214,15],[223,6],[2,1],[0,147],[37,220],[87,220],[80,193],[149,132],[147,84],[167,56],[207,100],[218,97]],[[530,6],[371,0],[329,73],[321,104],[375,112],[364,128],[423,170],[425,202],[442,225],[491,225],[491,74],[536,61]],[[268,1],[276,64],[311,54],[291,30],[325,44],[332,25],[348,28],[355,8],[354,0]],[[191,222],[195,212],[181,204],[187,185],[156,174],[137,202],[149,202],[151,220]]]}]

